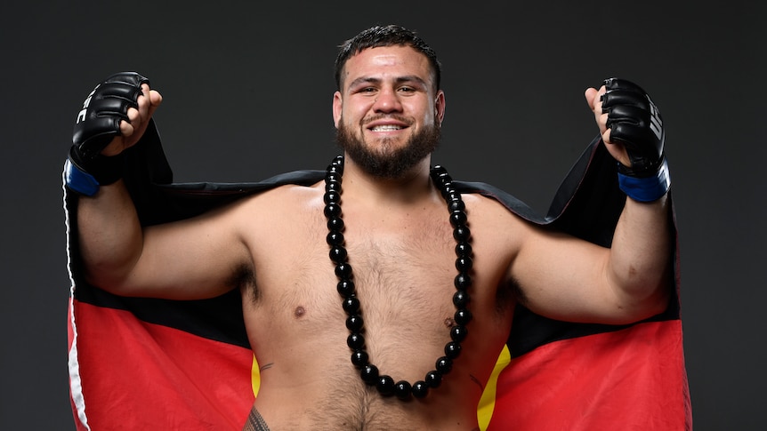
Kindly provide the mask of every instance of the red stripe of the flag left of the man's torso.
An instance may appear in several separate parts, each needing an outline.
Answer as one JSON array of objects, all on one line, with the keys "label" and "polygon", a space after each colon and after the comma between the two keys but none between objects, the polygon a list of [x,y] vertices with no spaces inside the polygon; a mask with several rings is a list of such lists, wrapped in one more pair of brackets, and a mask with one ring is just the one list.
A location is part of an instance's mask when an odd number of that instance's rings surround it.
[{"label": "red stripe of the flag left of the man's torso", "polygon": [[[94,430],[242,428],[253,353],[75,301],[85,416]],[[96,323],[96,324],[86,324]],[[73,332],[69,331],[70,346]],[[77,419],[78,429],[85,429]]]}]

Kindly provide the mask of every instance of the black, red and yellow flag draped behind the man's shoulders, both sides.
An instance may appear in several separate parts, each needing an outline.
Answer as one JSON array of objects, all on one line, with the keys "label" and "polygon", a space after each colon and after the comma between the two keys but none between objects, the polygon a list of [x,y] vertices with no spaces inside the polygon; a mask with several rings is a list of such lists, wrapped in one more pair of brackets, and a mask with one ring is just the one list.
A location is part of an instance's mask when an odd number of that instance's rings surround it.
[{"label": "black, red and yellow flag draped behind the man's shoulders, both sides", "polygon": [[[540,217],[504,191],[456,181],[523,219],[609,246],[625,202],[616,164],[594,140]],[[257,183],[174,184],[157,128],[126,151],[125,184],[144,226],[185,219],[259,191],[309,186],[321,171]],[[85,282],[77,195],[64,188],[69,275],[69,384],[78,430],[239,430],[258,392],[238,291],[214,299],[124,298]],[[673,218],[673,214],[670,216]],[[489,430],[691,429],[678,300],[630,325],[563,323],[519,306],[478,408]],[[257,354],[257,352],[256,352]]]}]

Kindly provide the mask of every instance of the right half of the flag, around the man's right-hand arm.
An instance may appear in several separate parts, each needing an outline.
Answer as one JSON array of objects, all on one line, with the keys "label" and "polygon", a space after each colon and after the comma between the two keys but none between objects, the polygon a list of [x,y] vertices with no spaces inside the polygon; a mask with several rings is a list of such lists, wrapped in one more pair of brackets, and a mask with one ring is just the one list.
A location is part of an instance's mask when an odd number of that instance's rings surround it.
[{"label": "right half of the flag, around the man's right-hand arm", "polygon": [[[497,188],[467,184],[465,191],[496,197],[534,223],[610,246],[626,202],[616,171],[601,140],[593,140],[543,219]],[[606,325],[556,321],[517,306],[480,403],[481,425],[488,430],[691,431],[673,211],[669,218],[674,292],[666,311],[639,323]]]}]

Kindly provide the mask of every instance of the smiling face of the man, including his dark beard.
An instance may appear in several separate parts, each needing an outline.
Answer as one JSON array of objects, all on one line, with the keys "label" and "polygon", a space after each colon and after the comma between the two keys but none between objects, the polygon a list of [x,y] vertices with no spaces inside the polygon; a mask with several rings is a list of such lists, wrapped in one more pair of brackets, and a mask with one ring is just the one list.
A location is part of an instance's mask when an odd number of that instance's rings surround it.
[{"label": "smiling face of the man, including his dark beard", "polygon": [[370,48],[343,68],[333,96],[339,145],[368,173],[397,178],[440,140],[444,94],[426,57],[410,47]]}]

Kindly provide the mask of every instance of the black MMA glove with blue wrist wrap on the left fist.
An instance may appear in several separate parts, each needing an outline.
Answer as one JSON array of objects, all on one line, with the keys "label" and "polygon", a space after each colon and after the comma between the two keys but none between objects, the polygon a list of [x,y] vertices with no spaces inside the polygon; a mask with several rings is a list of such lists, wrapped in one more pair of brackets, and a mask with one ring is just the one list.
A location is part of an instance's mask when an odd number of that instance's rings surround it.
[{"label": "black MMA glove with blue wrist wrap on the left fist", "polygon": [[93,196],[100,186],[122,177],[123,155],[103,156],[103,150],[120,135],[120,121],[128,120],[128,108],[138,108],[141,84],[149,79],[135,72],[109,76],[96,85],[77,114],[72,148],[66,164],[67,187]]}]

